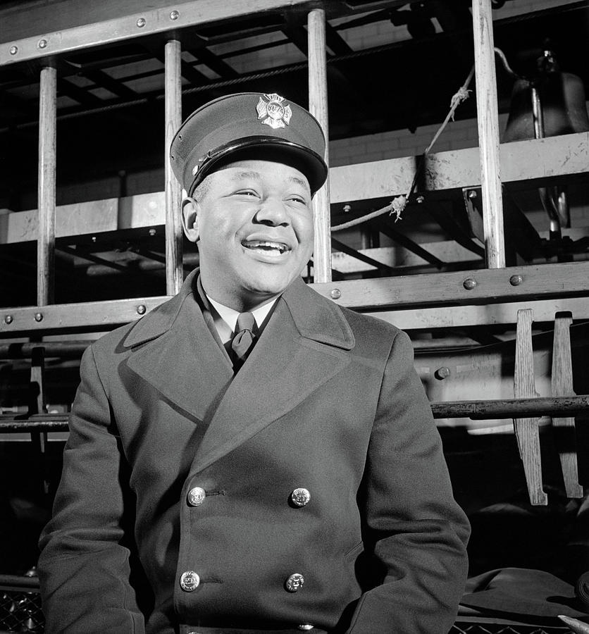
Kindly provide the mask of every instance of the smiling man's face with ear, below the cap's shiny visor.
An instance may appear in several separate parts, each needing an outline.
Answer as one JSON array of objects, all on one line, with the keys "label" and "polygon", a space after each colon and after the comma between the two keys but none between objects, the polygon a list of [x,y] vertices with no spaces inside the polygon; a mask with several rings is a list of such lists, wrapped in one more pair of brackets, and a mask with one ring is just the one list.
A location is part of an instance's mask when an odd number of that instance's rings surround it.
[{"label": "smiling man's face with ear, below the cap's shiny visor", "polygon": [[285,290],[311,257],[309,182],[294,167],[258,159],[235,161],[205,180],[196,218],[183,213],[187,236],[198,240],[204,290],[235,310],[250,309]]}]

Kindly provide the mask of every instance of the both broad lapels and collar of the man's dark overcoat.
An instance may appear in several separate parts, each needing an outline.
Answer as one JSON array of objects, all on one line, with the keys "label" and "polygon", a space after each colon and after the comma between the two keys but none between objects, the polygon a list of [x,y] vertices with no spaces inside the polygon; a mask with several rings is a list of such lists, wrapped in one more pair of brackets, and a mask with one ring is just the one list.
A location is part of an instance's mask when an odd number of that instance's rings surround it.
[{"label": "both broad lapels and collar of the man's dark overcoat", "polygon": [[194,460],[205,468],[284,416],[349,363],[354,336],[341,309],[297,278],[247,362],[233,375],[195,299],[197,273],[177,297],[132,328],[128,368],[206,433]]}]

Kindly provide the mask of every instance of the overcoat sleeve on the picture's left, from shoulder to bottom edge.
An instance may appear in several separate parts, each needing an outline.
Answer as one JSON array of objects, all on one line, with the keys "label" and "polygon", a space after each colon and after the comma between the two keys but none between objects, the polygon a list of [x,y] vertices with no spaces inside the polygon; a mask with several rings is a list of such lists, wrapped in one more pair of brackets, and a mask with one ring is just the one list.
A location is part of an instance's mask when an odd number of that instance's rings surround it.
[{"label": "overcoat sleeve on the picture's left, from shoulder to bottom edge", "polygon": [[82,357],[81,383],[54,514],[39,546],[46,632],[143,633],[125,547],[125,459],[92,347]]}]

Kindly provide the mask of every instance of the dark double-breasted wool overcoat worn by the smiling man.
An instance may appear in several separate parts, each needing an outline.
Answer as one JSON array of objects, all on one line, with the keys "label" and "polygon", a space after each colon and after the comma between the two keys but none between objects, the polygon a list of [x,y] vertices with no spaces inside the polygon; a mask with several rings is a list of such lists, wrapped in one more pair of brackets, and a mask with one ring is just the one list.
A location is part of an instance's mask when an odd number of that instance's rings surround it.
[{"label": "dark double-breasted wool overcoat worn by the smiling man", "polygon": [[234,377],[195,275],[82,359],[48,634],[445,634],[468,523],[407,335],[295,280]]}]

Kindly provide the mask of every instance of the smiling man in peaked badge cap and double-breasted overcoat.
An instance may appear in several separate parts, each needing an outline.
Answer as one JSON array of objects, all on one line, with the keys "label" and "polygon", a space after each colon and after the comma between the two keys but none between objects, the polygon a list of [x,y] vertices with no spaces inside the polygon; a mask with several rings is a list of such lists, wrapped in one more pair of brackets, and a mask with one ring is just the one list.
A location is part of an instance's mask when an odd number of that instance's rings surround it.
[{"label": "smiling man in peaked badge cap and double-breasted overcoat", "polygon": [[199,270],[82,359],[39,576],[51,633],[446,634],[469,526],[409,338],[307,287],[317,121],[187,118]]}]

